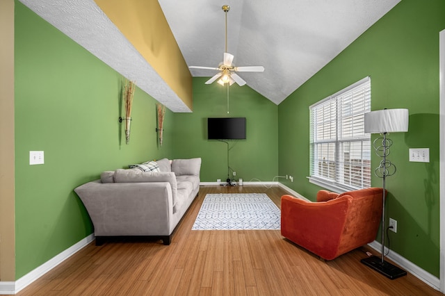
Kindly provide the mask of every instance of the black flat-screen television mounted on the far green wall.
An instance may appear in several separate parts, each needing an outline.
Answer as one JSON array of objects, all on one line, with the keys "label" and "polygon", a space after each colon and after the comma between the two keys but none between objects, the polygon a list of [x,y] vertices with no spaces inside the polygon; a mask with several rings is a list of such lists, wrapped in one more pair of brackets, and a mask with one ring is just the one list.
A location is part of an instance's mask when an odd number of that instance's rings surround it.
[{"label": "black flat-screen television mounted on the far green wall", "polygon": [[209,117],[207,132],[209,140],[245,139],[245,117]]}]

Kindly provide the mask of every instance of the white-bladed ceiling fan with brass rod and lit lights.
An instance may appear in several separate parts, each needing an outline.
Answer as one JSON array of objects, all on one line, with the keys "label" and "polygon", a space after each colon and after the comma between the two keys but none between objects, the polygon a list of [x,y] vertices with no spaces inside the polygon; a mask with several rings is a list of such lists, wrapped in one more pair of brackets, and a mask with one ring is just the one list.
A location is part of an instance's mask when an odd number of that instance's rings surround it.
[{"label": "white-bladed ceiling fan with brass rod and lit lights", "polygon": [[209,69],[209,70],[219,71],[218,74],[216,74],[211,79],[206,81],[206,84],[213,83],[218,79],[218,83],[220,83],[220,85],[225,85],[225,83],[228,83],[228,85],[232,85],[233,83],[236,82],[238,83],[238,85],[243,86],[245,85],[245,81],[240,76],[238,76],[238,74],[234,72],[264,72],[263,66],[235,67],[232,64],[234,56],[227,52],[227,13],[229,12],[229,10],[230,6],[223,5],[223,11],[225,13],[225,53],[223,62],[220,63],[218,67],[201,67],[201,66],[189,67],[190,69]]}]

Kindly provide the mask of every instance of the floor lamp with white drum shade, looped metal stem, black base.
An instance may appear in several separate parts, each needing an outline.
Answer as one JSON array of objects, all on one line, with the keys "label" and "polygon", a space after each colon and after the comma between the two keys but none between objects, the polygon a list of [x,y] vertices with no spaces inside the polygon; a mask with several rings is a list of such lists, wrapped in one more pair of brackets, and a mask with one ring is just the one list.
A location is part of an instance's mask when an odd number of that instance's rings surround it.
[{"label": "floor lamp with white drum shade, looped metal stem, black base", "polygon": [[375,175],[383,180],[383,207],[382,207],[382,256],[371,256],[362,259],[362,263],[373,270],[384,274],[389,279],[397,279],[406,275],[405,270],[384,260],[385,257],[385,181],[387,176],[396,173],[396,166],[387,160],[391,139],[387,133],[408,131],[408,109],[384,109],[364,114],[364,132],[380,133],[381,137],[373,142],[375,153],[382,158],[380,165],[375,169]]}]

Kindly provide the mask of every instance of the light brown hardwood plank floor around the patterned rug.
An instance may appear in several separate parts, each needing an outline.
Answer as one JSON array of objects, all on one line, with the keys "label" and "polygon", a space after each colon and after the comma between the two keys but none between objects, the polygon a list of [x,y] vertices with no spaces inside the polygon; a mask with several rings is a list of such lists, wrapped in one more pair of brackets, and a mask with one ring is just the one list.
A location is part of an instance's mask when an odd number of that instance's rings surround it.
[{"label": "light brown hardwood plank floor around the patterned rug", "polygon": [[[390,280],[362,263],[369,248],[321,261],[280,231],[192,231],[207,193],[265,192],[273,186],[202,186],[165,246],[161,241],[94,242],[18,295],[442,295],[412,274]],[[375,253],[375,252],[374,252]]]}]

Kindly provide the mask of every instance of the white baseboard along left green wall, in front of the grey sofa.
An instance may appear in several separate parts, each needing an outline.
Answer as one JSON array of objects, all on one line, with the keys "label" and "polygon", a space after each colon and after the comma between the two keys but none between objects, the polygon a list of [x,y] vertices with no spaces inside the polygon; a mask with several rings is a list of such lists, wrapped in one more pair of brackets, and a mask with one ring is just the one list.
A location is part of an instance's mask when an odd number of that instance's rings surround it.
[{"label": "white baseboard along left green wall, in front of the grey sofa", "polygon": [[31,272],[25,274],[20,279],[17,279],[17,281],[0,281],[0,294],[14,295],[19,293],[19,291],[29,286],[36,279],[42,277],[44,274],[49,272],[49,270],[52,270],[67,258],[70,258],[72,255],[76,254],[76,252],[79,252],[79,250],[83,249],[83,247],[86,247],[86,245],[88,245],[94,239],[94,234],[90,234],[68,249],[65,249],[65,251],[54,256],[49,261],[43,263],[38,268],[31,270]]}]

